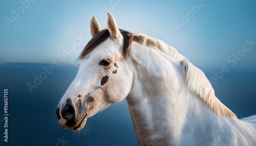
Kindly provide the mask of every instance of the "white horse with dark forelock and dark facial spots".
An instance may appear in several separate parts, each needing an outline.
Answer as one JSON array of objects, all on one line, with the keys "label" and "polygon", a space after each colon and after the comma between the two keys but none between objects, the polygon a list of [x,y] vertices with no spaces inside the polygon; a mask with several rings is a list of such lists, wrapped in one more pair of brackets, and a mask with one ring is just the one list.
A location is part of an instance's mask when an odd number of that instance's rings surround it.
[{"label": "white horse with dark forelock and dark facial spots", "polygon": [[126,99],[139,145],[256,145],[256,115],[238,119],[176,48],[118,29],[111,13],[107,26],[91,20],[92,39],[56,107],[63,128],[82,129],[87,118]]}]

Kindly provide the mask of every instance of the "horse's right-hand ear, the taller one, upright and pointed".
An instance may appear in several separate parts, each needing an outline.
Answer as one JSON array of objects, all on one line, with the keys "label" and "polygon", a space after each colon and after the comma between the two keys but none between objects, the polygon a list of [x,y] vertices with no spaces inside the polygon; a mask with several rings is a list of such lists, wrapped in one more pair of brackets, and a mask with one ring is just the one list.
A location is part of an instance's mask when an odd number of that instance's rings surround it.
[{"label": "horse's right-hand ear, the taller one, upright and pointed", "polygon": [[120,34],[120,32],[116,26],[115,18],[110,12],[108,12],[108,29],[113,38],[117,38],[117,36]]}]

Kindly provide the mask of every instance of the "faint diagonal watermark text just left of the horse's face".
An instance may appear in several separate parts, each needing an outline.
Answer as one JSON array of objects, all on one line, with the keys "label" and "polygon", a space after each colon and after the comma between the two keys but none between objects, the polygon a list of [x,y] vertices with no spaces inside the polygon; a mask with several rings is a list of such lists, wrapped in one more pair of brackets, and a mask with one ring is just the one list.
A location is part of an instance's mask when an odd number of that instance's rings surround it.
[{"label": "faint diagonal watermark text just left of the horse's face", "polygon": [[[81,34],[77,35],[75,34],[75,38],[73,39],[73,42],[68,44],[67,47],[62,48],[59,50],[56,54],[58,58],[60,58],[61,61],[65,61],[67,59],[67,56],[69,56],[72,52],[75,51],[76,46],[79,46],[86,37],[83,37]],[[42,66],[42,71],[39,73],[39,75],[34,74],[34,80],[32,83],[27,82],[26,85],[29,89],[29,92],[32,93],[34,88],[37,88],[39,85],[41,85],[42,81],[46,80],[49,75],[52,74],[54,68],[57,68],[59,66],[57,60],[52,60],[50,65]]]}]

